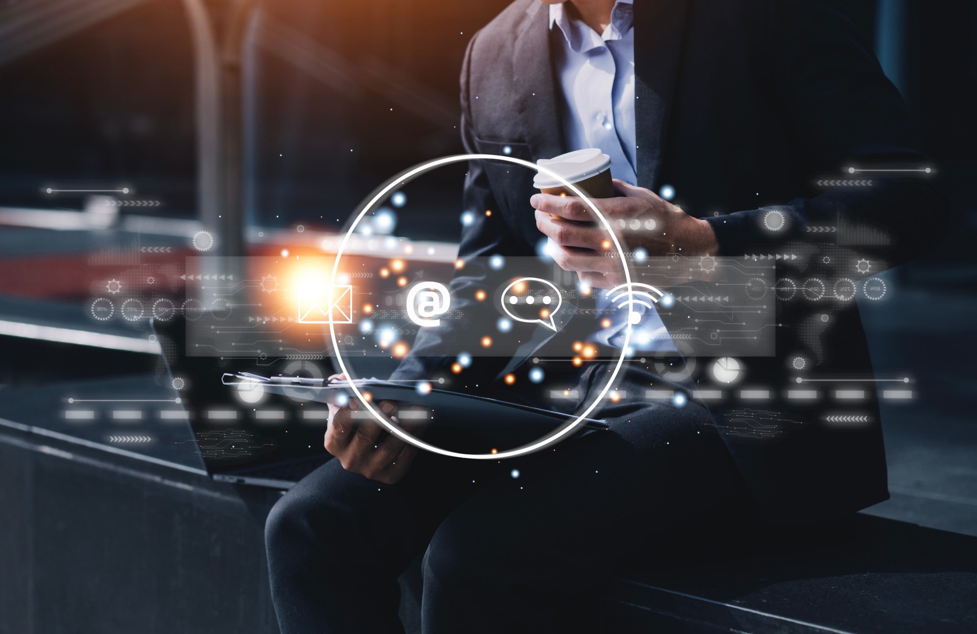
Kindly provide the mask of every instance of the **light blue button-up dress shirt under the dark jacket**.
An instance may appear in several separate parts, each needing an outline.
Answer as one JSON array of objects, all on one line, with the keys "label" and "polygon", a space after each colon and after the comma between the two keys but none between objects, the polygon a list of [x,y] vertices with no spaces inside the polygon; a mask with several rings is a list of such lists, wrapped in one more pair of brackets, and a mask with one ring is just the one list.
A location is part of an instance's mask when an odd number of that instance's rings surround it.
[{"label": "light blue button-up dress shirt under the dark jacket", "polygon": [[[582,21],[573,20],[564,4],[549,6],[549,21],[567,151],[601,148],[611,156],[611,175],[637,185],[632,2],[617,0],[611,23],[599,35]],[[610,307],[610,298],[601,291],[598,310]],[[658,312],[641,305],[635,305],[634,310],[642,317],[632,329],[630,347],[635,351],[674,351]],[[619,348],[627,327],[627,308],[616,309],[608,317],[611,326],[599,329],[589,339]]]}]

